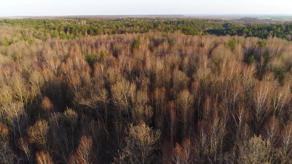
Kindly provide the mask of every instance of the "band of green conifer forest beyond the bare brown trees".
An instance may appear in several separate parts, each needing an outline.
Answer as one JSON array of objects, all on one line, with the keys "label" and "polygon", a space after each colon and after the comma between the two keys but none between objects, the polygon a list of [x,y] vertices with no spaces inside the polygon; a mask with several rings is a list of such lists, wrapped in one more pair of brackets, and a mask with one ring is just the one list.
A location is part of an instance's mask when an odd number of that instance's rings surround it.
[{"label": "band of green conifer forest beyond the bare brown trees", "polygon": [[[246,18],[249,20],[250,18]],[[245,20],[245,19],[243,19]],[[267,21],[268,22],[268,21]],[[63,18],[4,19],[0,25],[31,28],[33,36],[46,41],[51,38],[76,39],[84,36],[132,34],[146,32],[186,35],[245,36],[267,39],[269,36],[292,40],[292,23],[242,25],[232,21],[186,18]],[[10,40],[10,42],[12,42]]]}]

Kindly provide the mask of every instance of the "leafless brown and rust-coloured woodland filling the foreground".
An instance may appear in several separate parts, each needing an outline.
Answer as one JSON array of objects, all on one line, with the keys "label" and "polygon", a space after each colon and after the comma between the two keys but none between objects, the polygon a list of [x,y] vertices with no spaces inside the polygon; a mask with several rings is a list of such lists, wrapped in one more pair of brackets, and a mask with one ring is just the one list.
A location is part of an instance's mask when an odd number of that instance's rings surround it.
[{"label": "leafless brown and rust-coloured woodland filling the foreground", "polygon": [[1,21],[1,164],[292,163],[290,41],[42,21]]}]

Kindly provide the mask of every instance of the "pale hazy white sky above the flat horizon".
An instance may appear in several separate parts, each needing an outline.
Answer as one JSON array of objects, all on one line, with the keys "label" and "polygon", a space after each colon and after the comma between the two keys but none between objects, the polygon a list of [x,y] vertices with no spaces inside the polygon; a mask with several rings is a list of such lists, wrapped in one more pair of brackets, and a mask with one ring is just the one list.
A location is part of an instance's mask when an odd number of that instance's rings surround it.
[{"label": "pale hazy white sky above the flat horizon", "polygon": [[292,0],[0,0],[0,16],[289,14]]}]

